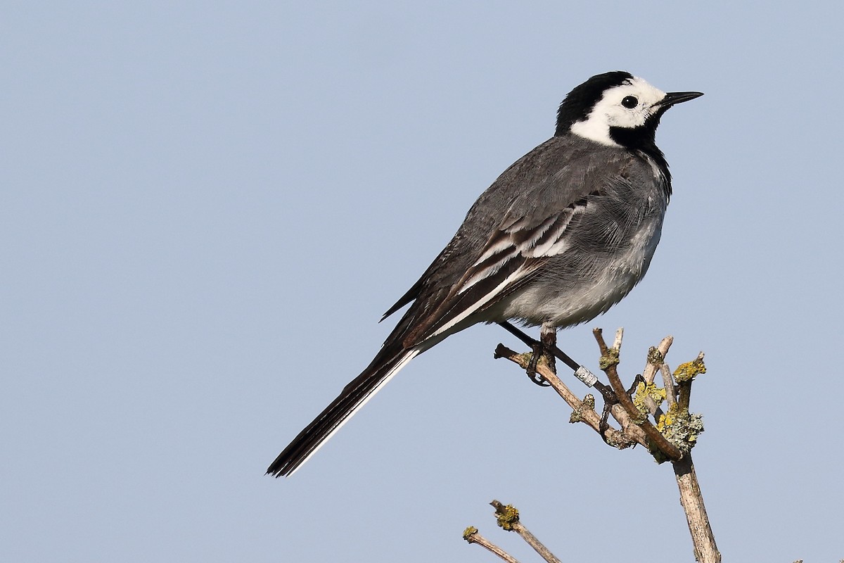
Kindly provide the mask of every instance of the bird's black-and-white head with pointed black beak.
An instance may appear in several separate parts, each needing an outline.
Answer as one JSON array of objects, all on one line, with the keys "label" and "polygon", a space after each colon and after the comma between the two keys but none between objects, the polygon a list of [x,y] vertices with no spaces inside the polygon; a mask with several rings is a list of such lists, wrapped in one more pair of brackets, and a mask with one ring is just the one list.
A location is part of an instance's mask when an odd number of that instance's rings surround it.
[{"label": "bird's black-and-white head with pointed black beak", "polygon": [[701,92],[669,92],[623,71],[598,74],[565,96],[555,135],[573,133],[596,143],[636,149],[652,144],[669,107]]}]

